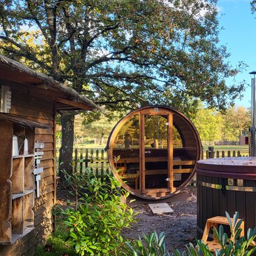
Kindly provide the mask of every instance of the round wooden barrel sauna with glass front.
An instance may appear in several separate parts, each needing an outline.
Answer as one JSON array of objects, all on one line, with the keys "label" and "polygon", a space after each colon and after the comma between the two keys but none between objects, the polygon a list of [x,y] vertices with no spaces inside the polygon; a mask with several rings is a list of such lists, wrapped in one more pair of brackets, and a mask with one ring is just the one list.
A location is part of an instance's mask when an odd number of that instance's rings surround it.
[{"label": "round wooden barrel sauna with glass front", "polygon": [[112,173],[130,194],[168,198],[189,184],[201,159],[201,140],[184,114],[163,106],[136,109],[107,142]]}]

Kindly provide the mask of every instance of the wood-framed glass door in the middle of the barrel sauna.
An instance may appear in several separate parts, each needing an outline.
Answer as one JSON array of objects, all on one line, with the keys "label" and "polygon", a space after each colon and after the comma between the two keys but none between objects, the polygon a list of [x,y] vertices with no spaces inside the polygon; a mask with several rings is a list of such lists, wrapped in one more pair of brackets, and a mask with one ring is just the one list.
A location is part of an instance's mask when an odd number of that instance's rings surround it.
[{"label": "wood-framed glass door in the middle of the barrel sauna", "polygon": [[168,114],[142,115],[142,193],[170,189],[168,122]]}]

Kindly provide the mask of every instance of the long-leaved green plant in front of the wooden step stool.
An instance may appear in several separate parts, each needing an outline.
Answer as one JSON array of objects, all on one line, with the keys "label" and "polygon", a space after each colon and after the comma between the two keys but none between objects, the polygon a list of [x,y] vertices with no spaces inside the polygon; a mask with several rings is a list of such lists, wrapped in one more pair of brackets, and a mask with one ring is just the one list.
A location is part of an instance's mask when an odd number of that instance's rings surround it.
[{"label": "long-leaved green plant in front of the wooden step stool", "polygon": [[[252,252],[256,251],[256,246],[252,246],[250,248],[250,244],[256,238],[256,227],[254,229],[248,229],[247,235],[240,237],[241,234],[241,222],[238,220],[238,212],[234,214],[233,222],[231,221],[231,217],[226,212],[227,220],[229,222],[230,236],[227,236],[224,233],[223,226],[220,225],[217,230],[215,227],[213,228],[213,234],[217,238],[217,241],[221,245],[221,249],[215,249],[216,256],[250,256]],[[213,252],[210,252],[207,243],[203,243],[201,240],[196,241],[197,249],[193,244],[189,243],[189,246],[186,246],[186,251],[182,252],[182,254],[175,250],[175,256],[213,256]]]}]

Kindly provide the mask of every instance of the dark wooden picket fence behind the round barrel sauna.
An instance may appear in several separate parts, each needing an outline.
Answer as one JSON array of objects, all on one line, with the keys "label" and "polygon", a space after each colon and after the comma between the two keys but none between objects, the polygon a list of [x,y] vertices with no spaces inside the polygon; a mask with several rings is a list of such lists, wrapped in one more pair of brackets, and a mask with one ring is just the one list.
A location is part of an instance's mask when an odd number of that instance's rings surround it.
[{"label": "dark wooden picket fence behind the round barrel sauna", "polygon": [[[213,159],[231,156],[248,156],[248,153],[241,151],[203,151],[203,159]],[[97,177],[112,175],[109,170],[107,152],[104,149],[75,149],[74,150],[75,170],[83,173],[90,168]]]}]

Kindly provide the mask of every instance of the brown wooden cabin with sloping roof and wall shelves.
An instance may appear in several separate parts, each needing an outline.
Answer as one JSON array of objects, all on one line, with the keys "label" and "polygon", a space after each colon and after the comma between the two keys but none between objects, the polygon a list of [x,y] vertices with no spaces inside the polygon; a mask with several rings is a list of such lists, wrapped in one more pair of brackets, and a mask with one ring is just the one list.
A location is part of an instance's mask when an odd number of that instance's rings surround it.
[{"label": "brown wooden cabin with sloping roof and wall shelves", "polygon": [[30,256],[54,228],[56,113],[97,106],[3,55],[0,92],[0,255]]}]

